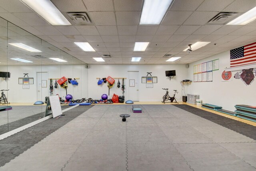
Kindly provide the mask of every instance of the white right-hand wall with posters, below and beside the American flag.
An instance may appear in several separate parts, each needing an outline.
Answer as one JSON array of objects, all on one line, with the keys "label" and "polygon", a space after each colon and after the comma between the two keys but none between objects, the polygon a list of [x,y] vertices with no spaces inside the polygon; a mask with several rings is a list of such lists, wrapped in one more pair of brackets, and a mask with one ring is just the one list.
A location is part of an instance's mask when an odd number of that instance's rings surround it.
[{"label": "white right-hand wall with posters, below and beside the American flag", "polygon": [[[222,82],[222,72],[230,67],[230,52],[226,51],[209,58],[193,62],[189,66],[188,77],[193,80],[193,66],[219,59],[219,70],[213,71],[212,82],[193,82],[188,86],[189,94],[199,94],[203,103],[210,103],[222,106],[223,109],[234,111],[236,104],[256,105],[256,82],[251,85],[245,85],[240,79],[234,79],[232,72],[232,81]],[[256,78],[254,78],[255,80]]]}]

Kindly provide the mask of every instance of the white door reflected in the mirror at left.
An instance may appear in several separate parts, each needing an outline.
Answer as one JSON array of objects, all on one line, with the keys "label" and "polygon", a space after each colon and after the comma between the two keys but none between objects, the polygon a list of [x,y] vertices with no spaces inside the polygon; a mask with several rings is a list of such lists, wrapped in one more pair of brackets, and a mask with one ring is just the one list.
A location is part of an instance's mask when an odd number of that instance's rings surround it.
[{"label": "white door reflected in the mirror at left", "polygon": [[36,72],[37,101],[44,101],[49,96],[48,72]]}]

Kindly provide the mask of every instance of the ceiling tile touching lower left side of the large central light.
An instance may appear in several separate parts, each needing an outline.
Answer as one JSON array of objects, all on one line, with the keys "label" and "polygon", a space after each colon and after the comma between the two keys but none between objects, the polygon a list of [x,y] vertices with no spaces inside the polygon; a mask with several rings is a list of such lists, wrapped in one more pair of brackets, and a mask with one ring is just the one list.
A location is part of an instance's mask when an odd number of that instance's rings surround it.
[{"label": "ceiling tile touching lower left side of the large central light", "polygon": [[116,12],[117,25],[138,25],[140,12]]}]

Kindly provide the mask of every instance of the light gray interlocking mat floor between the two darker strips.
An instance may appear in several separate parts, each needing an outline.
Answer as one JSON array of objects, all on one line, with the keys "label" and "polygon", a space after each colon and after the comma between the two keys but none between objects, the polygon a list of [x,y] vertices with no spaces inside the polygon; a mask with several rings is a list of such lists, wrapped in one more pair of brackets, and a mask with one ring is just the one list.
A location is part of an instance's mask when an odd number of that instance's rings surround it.
[{"label": "light gray interlocking mat floor between the two darker strips", "polygon": [[[132,105],[74,108],[77,117],[16,154],[0,171],[256,170],[254,139],[175,105],[140,107],[142,113],[132,113]],[[122,113],[131,115],[126,122]],[[51,124],[58,119],[48,120],[53,122],[40,134],[56,129]],[[21,141],[24,148],[34,140]]]}]

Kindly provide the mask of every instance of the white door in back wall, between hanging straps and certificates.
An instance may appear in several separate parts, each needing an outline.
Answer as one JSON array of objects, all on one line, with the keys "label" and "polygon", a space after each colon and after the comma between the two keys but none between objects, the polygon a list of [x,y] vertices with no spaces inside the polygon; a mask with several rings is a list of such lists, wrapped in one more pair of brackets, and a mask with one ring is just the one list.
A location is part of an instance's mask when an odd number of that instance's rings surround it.
[{"label": "white door in back wall, between hanging straps and certificates", "polygon": [[138,71],[128,71],[126,100],[140,101],[139,80]]}]

